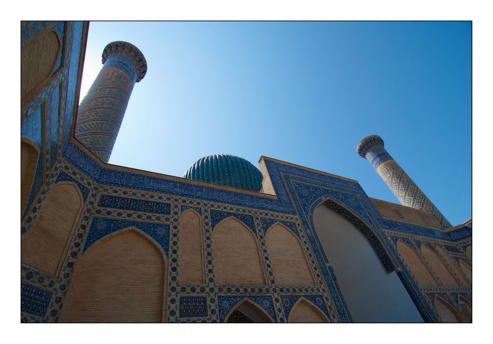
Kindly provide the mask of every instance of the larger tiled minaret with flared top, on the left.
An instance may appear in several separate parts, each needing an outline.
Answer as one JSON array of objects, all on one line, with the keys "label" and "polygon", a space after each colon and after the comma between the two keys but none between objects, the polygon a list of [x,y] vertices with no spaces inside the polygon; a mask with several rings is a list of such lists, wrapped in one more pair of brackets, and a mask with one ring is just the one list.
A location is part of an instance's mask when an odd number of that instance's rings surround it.
[{"label": "larger tiled minaret with flared top, on the left", "polygon": [[108,162],[136,82],[144,77],[147,62],[128,42],[116,41],[103,50],[103,68],[79,104],[75,138]]}]

